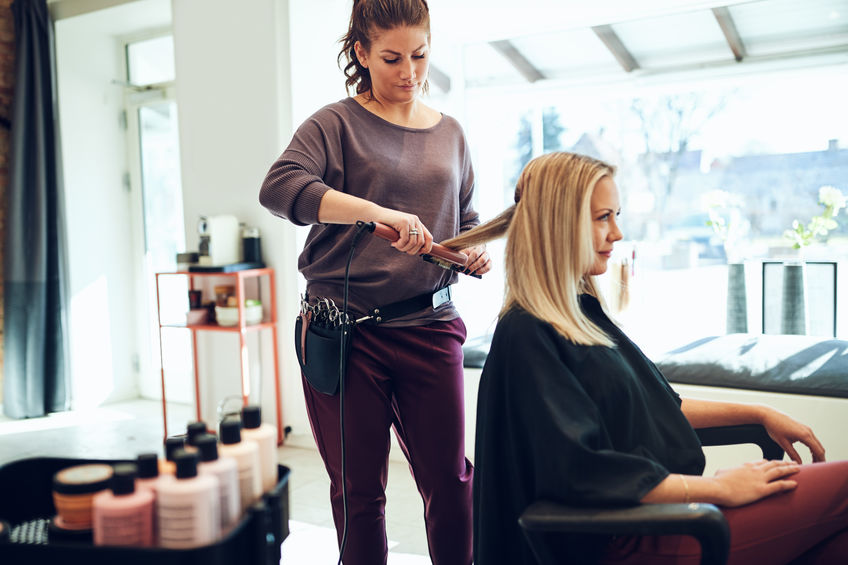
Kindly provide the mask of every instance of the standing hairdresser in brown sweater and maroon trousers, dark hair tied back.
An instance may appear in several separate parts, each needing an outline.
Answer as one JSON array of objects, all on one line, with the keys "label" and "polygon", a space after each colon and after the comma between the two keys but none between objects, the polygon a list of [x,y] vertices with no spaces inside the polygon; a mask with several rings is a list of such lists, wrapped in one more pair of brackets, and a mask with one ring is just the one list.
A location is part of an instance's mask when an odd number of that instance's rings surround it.
[{"label": "standing hairdresser in brown sweater and maroon trousers, dark hair tied back", "polygon": [[[472,466],[465,458],[462,343],[465,325],[441,289],[457,275],[417,256],[478,223],[474,175],[456,120],[428,107],[430,16],[424,0],[355,0],[341,39],[355,96],[304,122],[273,164],[260,202],[312,228],[298,268],[313,299],[341,306],[357,220],[399,239],[365,236],[350,266],[349,309],[395,310],[359,324],[345,380],[348,533],[345,565],[386,562],[385,487],[390,428],[424,499],[435,565],[471,563]],[[483,274],[483,246],[463,250]],[[381,308],[398,305],[400,308]],[[405,306],[404,306],[405,305]],[[411,311],[410,311],[411,310]],[[339,542],[344,527],[338,396],[304,379],[312,432],[330,475]]]}]

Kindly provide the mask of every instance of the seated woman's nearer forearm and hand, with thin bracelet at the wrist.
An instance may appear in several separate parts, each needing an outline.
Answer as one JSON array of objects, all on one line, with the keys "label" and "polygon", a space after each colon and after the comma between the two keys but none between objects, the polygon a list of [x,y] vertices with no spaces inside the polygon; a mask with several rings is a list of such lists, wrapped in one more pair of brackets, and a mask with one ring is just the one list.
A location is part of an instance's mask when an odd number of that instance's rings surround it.
[{"label": "seated woman's nearer forearm and hand, with thin bracelet at the wrist", "polygon": [[719,471],[714,477],[668,475],[642,502],[709,502],[720,506],[742,506],[792,490],[797,483],[790,475],[798,472],[792,461],[756,461]]}]

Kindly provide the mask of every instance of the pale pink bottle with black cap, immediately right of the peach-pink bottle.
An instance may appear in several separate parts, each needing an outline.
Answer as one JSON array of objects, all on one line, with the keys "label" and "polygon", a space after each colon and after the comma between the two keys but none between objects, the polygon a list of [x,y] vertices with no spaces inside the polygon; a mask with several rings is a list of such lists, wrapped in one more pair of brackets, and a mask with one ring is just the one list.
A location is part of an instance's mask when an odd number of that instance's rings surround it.
[{"label": "pale pink bottle with black cap, immediately right of the peach-pink bottle", "polygon": [[178,450],[173,456],[176,478],[156,485],[156,528],[159,545],[197,547],[220,537],[218,479],[197,474],[197,453]]}]

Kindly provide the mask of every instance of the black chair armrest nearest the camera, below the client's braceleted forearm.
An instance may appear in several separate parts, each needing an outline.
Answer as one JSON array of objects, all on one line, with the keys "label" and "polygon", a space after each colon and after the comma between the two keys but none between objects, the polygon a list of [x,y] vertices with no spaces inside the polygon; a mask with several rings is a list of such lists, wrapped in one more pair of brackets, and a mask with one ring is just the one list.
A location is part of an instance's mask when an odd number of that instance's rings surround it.
[{"label": "black chair armrest nearest the camera, below the client's braceleted forearm", "polygon": [[580,508],[539,500],[518,519],[528,544],[542,564],[556,558],[545,545],[545,533],[606,535],[689,535],[701,544],[702,565],[727,561],[730,530],[712,504],[640,504],[627,508]]}]

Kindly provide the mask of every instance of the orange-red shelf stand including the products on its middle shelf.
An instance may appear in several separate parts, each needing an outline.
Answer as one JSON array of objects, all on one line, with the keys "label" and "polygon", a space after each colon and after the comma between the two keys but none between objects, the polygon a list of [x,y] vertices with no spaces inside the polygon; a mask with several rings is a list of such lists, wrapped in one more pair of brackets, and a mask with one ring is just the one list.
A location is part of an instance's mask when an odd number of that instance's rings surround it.
[{"label": "orange-red shelf stand including the products on its middle shelf", "polygon": [[[185,323],[163,322],[163,306],[161,300],[160,278],[162,277],[187,277],[189,289],[189,301],[191,309],[186,314]],[[262,279],[267,279],[267,285],[260,284]],[[246,296],[247,281],[256,280],[256,296]],[[223,282],[222,282],[223,281]],[[214,282],[215,296],[207,296],[215,300],[214,306],[207,302],[203,303],[203,288]],[[269,303],[263,304],[257,300],[261,288],[269,289]],[[162,423],[165,437],[168,437],[168,415],[165,401],[165,360],[162,350],[162,330],[165,328],[182,328],[191,331],[192,361],[194,365],[194,398],[197,410],[197,419],[203,420],[200,406],[200,374],[197,360],[197,332],[230,332],[239,336],[239,358],[241,366],[241,393],[242,402],[248,404],[250,390],[250,374],[248,363],[247,334],[264,330],[271,331],[271,343],[273,349],[273,371],[274,371],[274,395],[276,404],[277,444],[283,443],[282,407],[280,399],[280,371],[277,353],[277,299],[275,291],[274,270],[270,268],[246,269],[233,272],[191,272],[172,271],[156,273],[156,304],[159,319],[159,358],[161,362],[162,382]],[[207,292],[208,294],[208,292]],[[191,304],[191,302],[194,302]],[[213,310],[214,308],[214,310]],[[261,313],[260,313],[261,311]],[[205,312],[205,314],[204,314]],[[227,315],[226,325],[210,321],[215,315],[223,320]],[[192,323],[192,320],[198,320]]]}]

